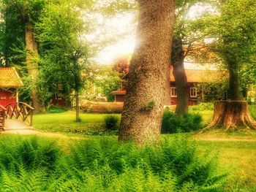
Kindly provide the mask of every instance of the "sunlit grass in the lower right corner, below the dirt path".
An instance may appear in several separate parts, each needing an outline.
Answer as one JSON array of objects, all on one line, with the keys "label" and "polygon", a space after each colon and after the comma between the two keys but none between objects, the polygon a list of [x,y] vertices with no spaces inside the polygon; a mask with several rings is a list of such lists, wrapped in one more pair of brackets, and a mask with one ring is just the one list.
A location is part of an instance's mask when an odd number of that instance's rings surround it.
[{"label": "sunlit grass in the lower right corner, below the dirt path", "polygon": [[226,191],[256,191],[256,141],[197,141],[197,146],[217,154],[220,170],[230,169]]}]

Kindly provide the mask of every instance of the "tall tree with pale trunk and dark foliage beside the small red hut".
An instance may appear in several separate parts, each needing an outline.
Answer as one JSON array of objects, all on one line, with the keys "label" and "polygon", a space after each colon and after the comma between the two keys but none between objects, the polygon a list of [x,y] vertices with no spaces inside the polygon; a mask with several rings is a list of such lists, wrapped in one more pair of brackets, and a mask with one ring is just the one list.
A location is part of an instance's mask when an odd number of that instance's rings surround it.
[{"label": "tall tree with pale trunk and dark foliage beside the small red hut", "polygon": [[[39,54],[37,49],[37,42],[35,39],[35,28],[34,25],[39,18],[40,13],[44,7],[45,1],[43,0],[3,0],[4,9],[2,13],[5,20],[5,40],[11,39],[21,39],[24,41],[26,46],[26,69],[31,78],[31,99],[36,112],[44,110],[42,102],[38,99],[38,93],[36,88],[36,83],[38,79],[38,62]],[[9,28],[10,27],[10,28]],[[18,28],[18,29],[16,29]],[[10,30],[11,29],[11,30]],[[12,31],[15,31],[12,34]],[[23,33],[21,32],[23,31]],[[15,37],[23,34],[23,37]],[[16,42],[18,42],[16,40]],[[7,45],[12,46],[10,42]],[[5,46],[4,56],[5,61],[7,61],[7,66],[10,65],[10,47]]]}]

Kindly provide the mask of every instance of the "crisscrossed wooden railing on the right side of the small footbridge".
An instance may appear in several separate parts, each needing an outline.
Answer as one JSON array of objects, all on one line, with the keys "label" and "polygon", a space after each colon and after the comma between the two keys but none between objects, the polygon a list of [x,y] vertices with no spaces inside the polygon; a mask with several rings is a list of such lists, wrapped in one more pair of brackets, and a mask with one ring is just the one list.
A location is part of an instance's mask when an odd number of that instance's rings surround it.
[{"label": "crisscrossed wooden railing on the right side of the small footbridge", "polygon": [[28,123],[29,126],[32,126],[34,108],[29,104],[23,102],[15,102],[7,104],[5,108],[5,118],[20,118],[24,122]]}]

